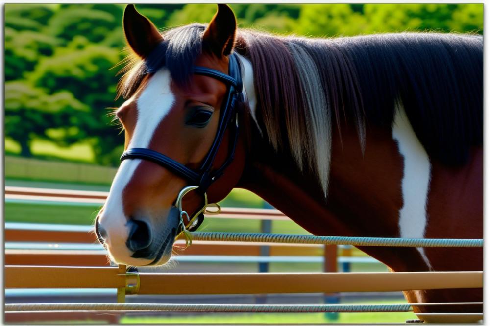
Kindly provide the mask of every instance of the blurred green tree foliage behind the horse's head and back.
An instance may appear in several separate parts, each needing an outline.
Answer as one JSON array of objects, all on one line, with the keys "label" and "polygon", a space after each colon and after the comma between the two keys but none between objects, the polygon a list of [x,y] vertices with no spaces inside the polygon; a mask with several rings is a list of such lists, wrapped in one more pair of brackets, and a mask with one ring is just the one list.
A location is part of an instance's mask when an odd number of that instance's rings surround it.
[{"label": "blurred green tree foliage behind the horse's head and back", "polygon": [[[483,33],[482,4],[231,5],[240,27],[306,36],[435,30]],[[159,28],[208,23],[215,4],[141,4]],[[30,155],[35,138],[90,141],[98,163],[117,164],[123,136],[110,125],[125,47],[123,4],[5,5],[5,131]]]}]

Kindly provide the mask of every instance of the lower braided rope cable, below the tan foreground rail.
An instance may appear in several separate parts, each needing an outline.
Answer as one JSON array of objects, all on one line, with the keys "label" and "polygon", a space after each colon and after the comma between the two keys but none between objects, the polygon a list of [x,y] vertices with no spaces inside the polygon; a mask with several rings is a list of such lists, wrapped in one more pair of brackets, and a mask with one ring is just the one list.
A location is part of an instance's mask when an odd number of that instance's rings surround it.
[{"label": "lower braided rope cable, below the tan foreground rail", "polygon": [[193,312],[407,312],[418,305],[467,305],[469,303],[412,304],[162,304],[162,303],[8,303],[5,312],[20,311],[193,311]]}]

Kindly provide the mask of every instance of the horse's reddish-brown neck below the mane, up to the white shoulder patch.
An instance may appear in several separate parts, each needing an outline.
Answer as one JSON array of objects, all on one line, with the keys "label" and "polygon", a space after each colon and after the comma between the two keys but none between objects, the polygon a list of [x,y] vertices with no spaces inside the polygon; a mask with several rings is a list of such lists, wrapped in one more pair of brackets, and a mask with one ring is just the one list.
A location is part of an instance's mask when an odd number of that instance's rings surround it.
[{"label": "horse's reddish-brown neck below the mane, up to the white shoulder patch", "polygon": [[[327,198],[315,174],[301,172],[290,154],[275,152],[258,135],[251,137],[238,186],[258,194],[316,235],[399,237],[403,158],[391,128],[371,129],[366,136],[363,154],[353,125],[342,128],[342,139],[333,130]],[[392,270],[427,268],[414,248],[360,249]],[[414,259],[407,259],[410,255]]]}]

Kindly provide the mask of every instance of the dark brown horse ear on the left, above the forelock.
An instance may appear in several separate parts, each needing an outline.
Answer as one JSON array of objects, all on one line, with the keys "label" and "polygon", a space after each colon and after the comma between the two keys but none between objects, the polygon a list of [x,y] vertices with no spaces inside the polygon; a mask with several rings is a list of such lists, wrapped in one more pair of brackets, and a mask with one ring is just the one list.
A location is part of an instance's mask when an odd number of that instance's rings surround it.
[{"label": "dark brown horse ear on the left, above the forelock", "polygon": [[142,59],[163,40],[155,25],[136,11],[133,4],[124,9],[123,29],[127,44]]}]

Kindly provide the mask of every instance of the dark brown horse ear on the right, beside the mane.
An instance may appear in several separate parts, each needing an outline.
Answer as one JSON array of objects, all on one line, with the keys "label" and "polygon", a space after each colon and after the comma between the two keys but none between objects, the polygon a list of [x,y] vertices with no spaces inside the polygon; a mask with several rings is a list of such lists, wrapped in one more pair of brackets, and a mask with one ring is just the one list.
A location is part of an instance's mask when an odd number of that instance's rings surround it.
[{"label": "dark brown horse ear on the right, beside the mane", "polygon": [[235,44],[237,20],[233,10],[226,4],[218,4],[218,11],[202,36],[203,50],[217,57],[231,53]]}]

